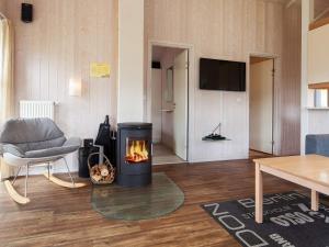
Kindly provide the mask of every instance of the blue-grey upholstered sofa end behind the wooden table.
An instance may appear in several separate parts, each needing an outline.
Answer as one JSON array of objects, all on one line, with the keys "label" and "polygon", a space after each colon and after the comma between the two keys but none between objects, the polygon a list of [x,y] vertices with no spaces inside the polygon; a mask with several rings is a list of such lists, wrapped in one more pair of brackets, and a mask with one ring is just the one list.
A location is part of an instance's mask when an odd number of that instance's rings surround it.
[{"label": "blue-grey upholstered sofa end behind the wooden table", "polygon": [[329,157],[329,135],[307,135],[305,153]]}]

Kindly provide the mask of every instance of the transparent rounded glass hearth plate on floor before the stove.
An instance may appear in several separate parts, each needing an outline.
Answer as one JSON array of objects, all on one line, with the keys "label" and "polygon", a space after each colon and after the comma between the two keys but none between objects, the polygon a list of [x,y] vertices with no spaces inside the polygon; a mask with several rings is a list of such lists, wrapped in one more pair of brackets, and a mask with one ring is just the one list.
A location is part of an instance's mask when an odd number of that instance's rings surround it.
[{"label": "transparent rounded glass hearth plate on floor before the stove", "polygon": [[93,210],[106,218],[138,221],[170,214],[184,202],[184,193],[163,172],[152,173],[152,183],[143,188],[116,184],[94,186]]}]

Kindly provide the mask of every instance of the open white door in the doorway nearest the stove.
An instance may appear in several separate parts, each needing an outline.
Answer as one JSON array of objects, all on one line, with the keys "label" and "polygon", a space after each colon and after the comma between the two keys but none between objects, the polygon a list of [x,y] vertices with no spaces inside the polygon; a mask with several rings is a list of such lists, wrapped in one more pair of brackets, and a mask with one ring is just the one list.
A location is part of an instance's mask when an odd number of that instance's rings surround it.
[{"label": "open white door in the doorway nearest the stove", "polygon": [[173,148],[183,160],[188,160],[188,87],[189,52],[184,50],[173,66]]}]

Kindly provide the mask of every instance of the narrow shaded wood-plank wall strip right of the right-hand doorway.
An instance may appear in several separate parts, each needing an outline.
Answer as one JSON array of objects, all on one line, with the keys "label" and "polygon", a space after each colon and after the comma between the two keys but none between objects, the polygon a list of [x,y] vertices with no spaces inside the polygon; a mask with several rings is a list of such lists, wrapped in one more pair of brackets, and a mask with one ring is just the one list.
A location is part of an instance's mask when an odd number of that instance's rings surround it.
[{"label": "narrow shaded wood-plank wall strip right of the right-hand doorway", "polygon": [[300,151],[302,9],[284,9],[282,54],[281,139],[282,155]]}]

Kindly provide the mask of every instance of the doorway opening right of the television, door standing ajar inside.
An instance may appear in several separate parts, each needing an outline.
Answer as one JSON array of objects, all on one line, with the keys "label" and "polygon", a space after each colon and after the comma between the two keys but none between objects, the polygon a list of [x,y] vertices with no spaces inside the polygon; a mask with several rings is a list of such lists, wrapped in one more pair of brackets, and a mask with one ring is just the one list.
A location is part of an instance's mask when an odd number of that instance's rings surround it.
[{"label": "doorway opening right of the television, door standing ajar inside", "polygon": [[274,58],[250,57],[249,154],[274,153]]}]

